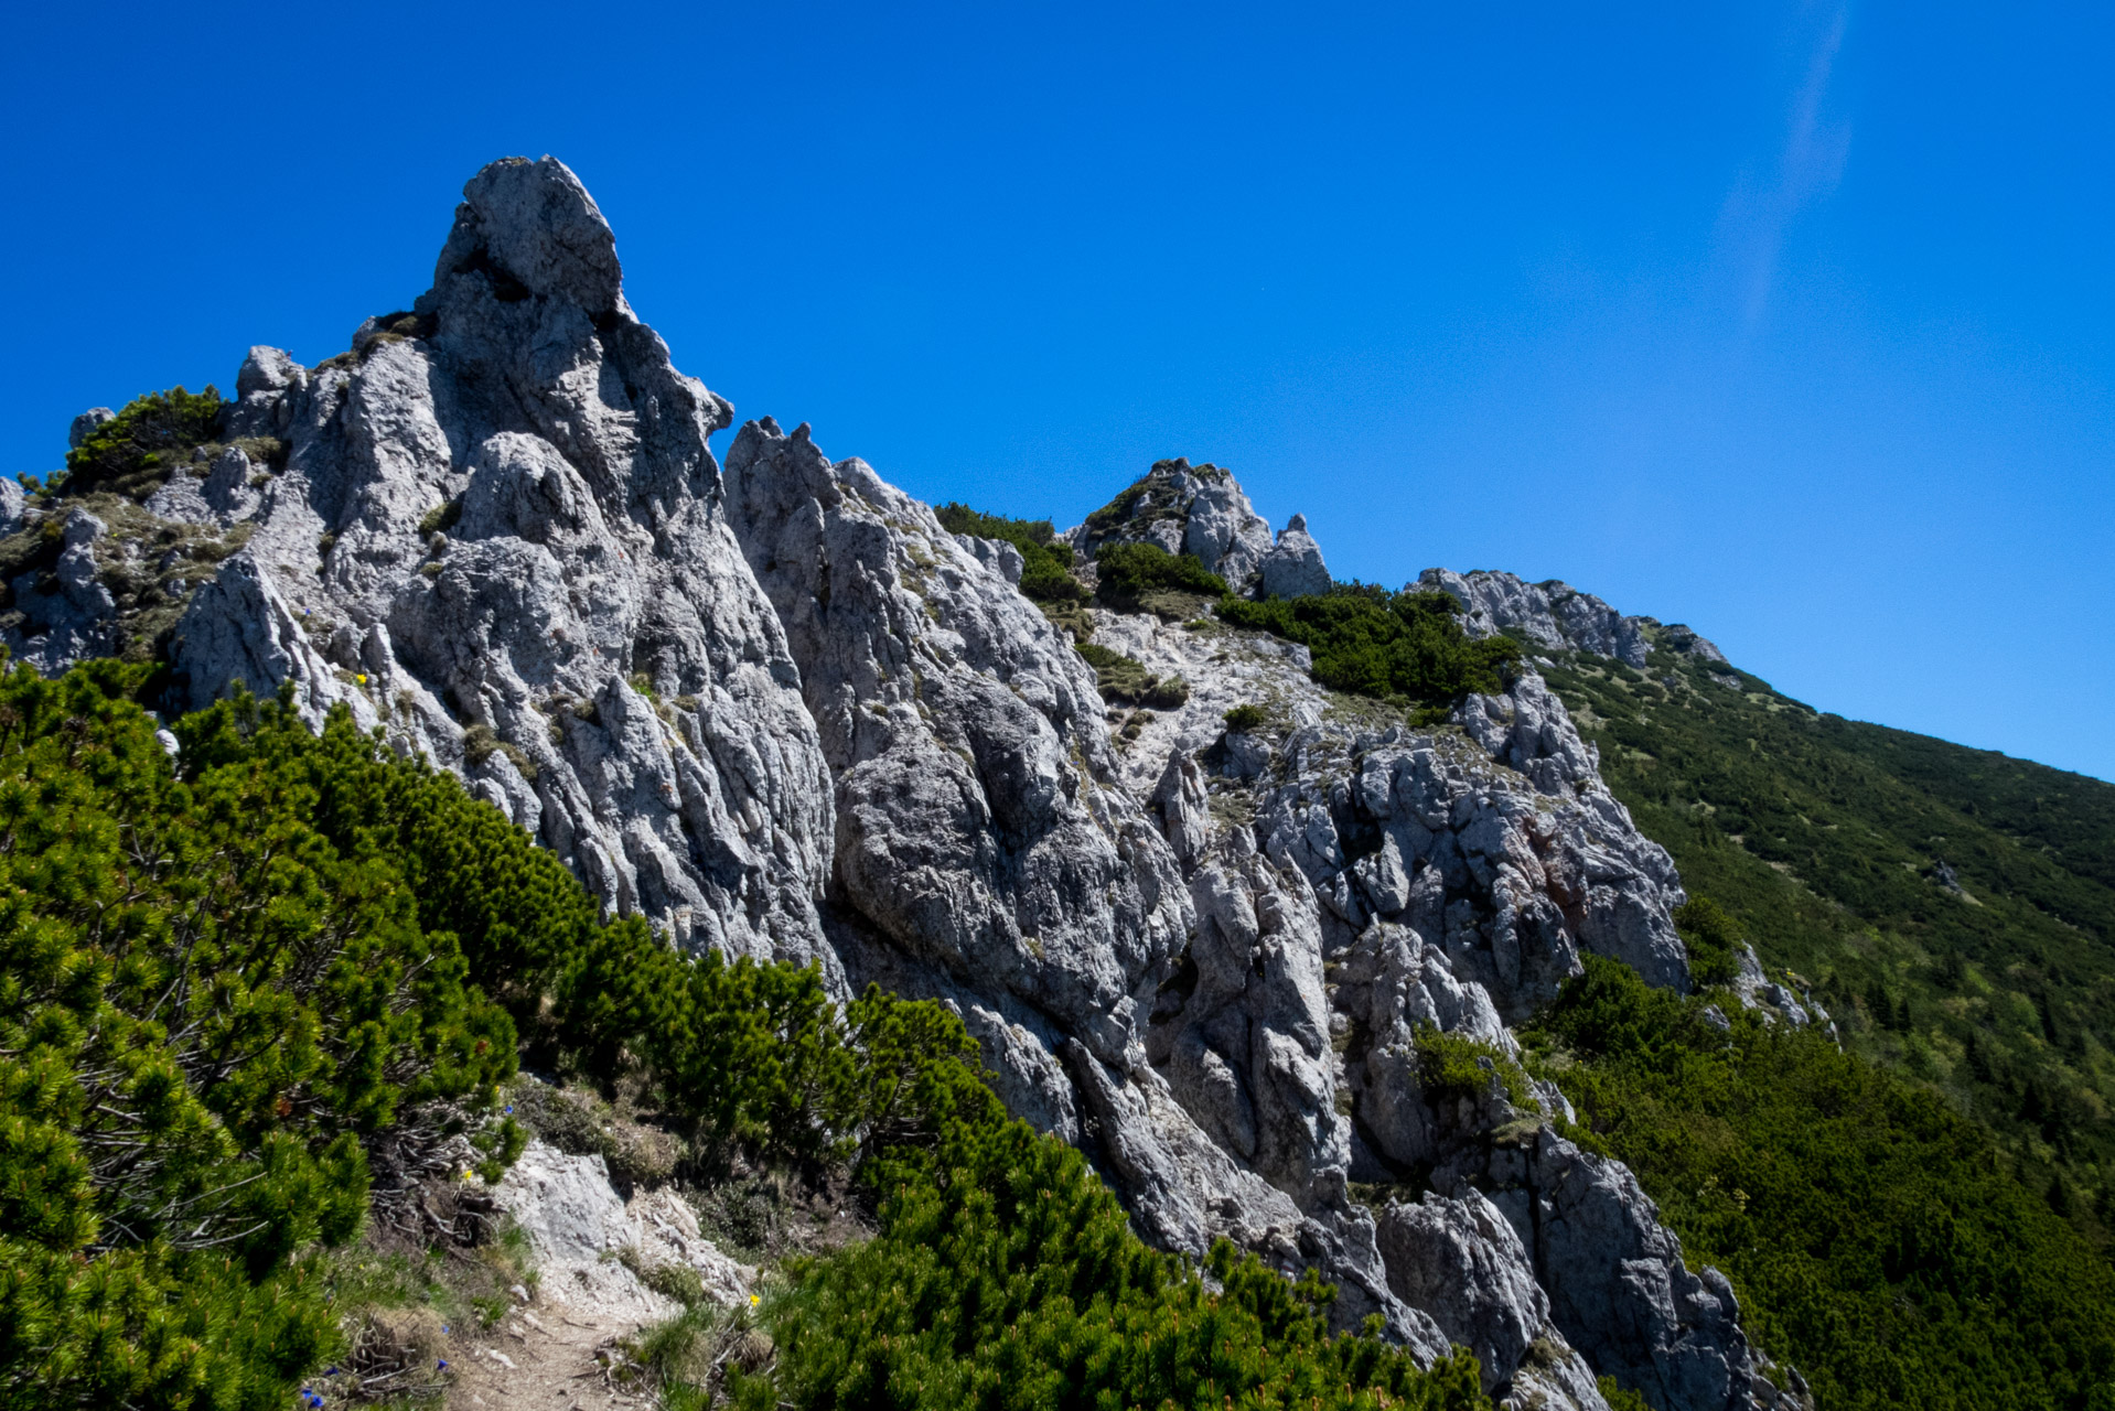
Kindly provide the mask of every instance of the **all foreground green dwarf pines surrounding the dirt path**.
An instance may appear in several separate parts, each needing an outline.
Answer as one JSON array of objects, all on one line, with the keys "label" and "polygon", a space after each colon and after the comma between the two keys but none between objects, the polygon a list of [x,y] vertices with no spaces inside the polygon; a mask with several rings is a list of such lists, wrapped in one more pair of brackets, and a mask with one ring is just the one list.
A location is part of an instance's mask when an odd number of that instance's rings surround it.
[{"label": "all foreground green dwarf pines surrounding the dirt path", "polygon": [[[556,857],[343,707],[311,734],[239,696],[178,721],[171,759],[144,679],[0,675],[8,1405],[264,1409],[326,1367],[434,1392],[431,1324],[463,1301],[495,1320],[520,1278],[505,1231],[446,1286],[387,1240],[326,1250],[370,1210],[408,1238],[387,1212],[412,1193],[419,1221],[484,1218],[448,1193],[525,1140],[516,1053],[654,1113],[692,1178],[861,1172],[880,1235],[791,1259],[755,1322],[687,1314],[721,1377],[702,1390],[736,1405],[1487,1405],[1468,1356],[1428,1373],[1371,1326],[1330,1335],[1313,1276],[1222,1246],[1208,1286],[1148,1250],[1077,1151],[1005,1119],[945,1009],[838,1005],[812,965],[605,924]],[[683,1337],[635,1356],[666,1405],[704,1405],[677,1400]]]}]

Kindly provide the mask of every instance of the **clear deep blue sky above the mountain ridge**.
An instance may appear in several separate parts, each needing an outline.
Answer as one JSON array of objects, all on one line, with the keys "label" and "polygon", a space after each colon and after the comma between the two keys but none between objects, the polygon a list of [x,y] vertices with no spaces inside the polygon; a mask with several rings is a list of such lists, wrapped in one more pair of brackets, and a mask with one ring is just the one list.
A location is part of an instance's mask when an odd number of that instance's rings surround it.
[{"label": "clear deep blue sky above the mountain ridge", "polygon": [[345,349],[552,152],[679,366],[918,495],[1212,459],[1339,575],[2115,778],[2109,15],[21,6],[0,468]]}]

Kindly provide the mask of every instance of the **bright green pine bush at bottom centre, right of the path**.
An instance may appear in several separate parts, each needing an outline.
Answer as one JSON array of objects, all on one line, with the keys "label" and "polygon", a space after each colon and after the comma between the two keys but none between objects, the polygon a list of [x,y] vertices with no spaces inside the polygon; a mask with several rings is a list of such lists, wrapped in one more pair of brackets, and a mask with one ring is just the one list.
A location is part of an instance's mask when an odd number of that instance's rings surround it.
[{"label": "bright green pine bush at bottom centre, right of the path", "polygon": [[871,1168],[880,1235],[793,1267],[768,1312],[795,1407],[1487,1407],[1476,1362],[1421,1373],[1330,1337],[1335,1290],[1220,1244],[1208,1293],[1148,1250],[1077,1151],[1017,1121]]}]

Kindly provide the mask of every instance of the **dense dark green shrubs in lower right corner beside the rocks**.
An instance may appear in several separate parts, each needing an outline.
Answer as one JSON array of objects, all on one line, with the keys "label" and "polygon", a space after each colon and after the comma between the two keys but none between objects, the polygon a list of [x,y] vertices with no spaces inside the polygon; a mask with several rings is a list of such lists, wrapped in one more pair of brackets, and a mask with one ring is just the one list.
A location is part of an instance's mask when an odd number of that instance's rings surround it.
[{"label": "dense dark green shrubs in lower right corner beside the rocks", "polygon": [[2115,1271],[1988,1134],[1823,1034],[1703,1009],[1586,956],[1529,1041],[1819,1405],[2092,1405]]}]

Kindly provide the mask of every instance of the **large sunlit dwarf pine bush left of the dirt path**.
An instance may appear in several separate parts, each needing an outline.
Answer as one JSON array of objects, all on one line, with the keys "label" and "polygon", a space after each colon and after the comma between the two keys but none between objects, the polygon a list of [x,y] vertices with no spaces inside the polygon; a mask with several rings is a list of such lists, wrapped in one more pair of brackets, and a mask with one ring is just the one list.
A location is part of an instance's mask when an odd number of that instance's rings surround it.
[{"label": "large sunlit dwarf pine bush left of the dirt path", "polygon": [[144,679],[0,677],[11,1407],[279,1405],[334,1337],[302,1250],[355,1231],[370,1149],[470,1132],[497,1174],[516,1140],[514,1026],[402,872],[334,846],[300,770],[180,776]]}]

